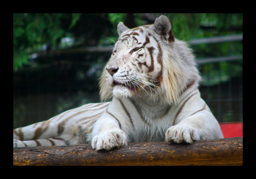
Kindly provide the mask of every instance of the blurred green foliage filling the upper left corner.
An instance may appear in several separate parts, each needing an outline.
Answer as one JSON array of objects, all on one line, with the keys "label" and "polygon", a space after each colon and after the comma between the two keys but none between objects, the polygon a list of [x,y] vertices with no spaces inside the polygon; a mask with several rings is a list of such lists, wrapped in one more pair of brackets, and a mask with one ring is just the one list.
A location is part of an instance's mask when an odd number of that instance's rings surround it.
[{"label": "blurred green foliage filling the upper left corner", "polygon": [[[17,70],[28,62],[31,52],[41,50],[44,44],[57,46],[65,31],[61,28],[65,14],[13,14],[13,68]],[[74,16],[72,24],[76,22]]]}]

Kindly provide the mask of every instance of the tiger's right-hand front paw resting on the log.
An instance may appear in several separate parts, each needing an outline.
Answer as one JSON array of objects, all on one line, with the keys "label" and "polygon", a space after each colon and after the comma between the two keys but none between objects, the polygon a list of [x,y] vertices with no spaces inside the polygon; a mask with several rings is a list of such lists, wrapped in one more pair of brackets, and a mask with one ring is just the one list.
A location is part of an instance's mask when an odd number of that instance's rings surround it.
[{"label": "tiger's right-hand front paw resting on the log", "polygon": [[191,144],[193,140],[199,139],[196,129],[192,127],[172,126],[165,133],[165,141],[170,143],[187,142]]}]

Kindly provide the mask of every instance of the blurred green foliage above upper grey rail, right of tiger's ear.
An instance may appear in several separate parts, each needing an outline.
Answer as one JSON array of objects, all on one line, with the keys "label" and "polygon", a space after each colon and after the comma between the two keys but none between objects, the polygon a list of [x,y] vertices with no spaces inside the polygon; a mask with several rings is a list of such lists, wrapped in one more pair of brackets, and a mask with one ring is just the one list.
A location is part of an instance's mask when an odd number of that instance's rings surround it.
[{"label": "blurred green foliage above upper grey rail, right of tiger's ear", "polygon": [[232,27],[243,25],[243,14],[177,13],[165,14],[172,24],[175,37],[189,41],[193,38],[236,33]]}]

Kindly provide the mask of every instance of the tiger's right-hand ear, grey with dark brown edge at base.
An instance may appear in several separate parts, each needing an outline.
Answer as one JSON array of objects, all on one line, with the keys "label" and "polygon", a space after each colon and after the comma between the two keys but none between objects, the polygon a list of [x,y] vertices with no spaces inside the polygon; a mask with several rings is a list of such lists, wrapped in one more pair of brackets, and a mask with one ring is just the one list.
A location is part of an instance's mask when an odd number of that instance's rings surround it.
[{"label": "tiger's right-hand ear, grey with dark brown edge at base", "polygon": [[167,42],[174,42],[174,34],[172,32],[172,25],[166,16],[160,16],[156,18],[155,32],[161,35]]}]

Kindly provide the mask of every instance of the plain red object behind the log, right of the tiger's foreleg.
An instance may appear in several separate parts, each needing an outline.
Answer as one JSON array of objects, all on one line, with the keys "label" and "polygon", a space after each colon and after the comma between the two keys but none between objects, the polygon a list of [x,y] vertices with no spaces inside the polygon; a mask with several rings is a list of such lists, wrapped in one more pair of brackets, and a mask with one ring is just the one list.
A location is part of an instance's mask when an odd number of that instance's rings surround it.
[{"label": "plain red object behind the log, right of the tiger's foreleg", "polygon": [[219,123],[224,138],[243,137],[243,122]]}]

